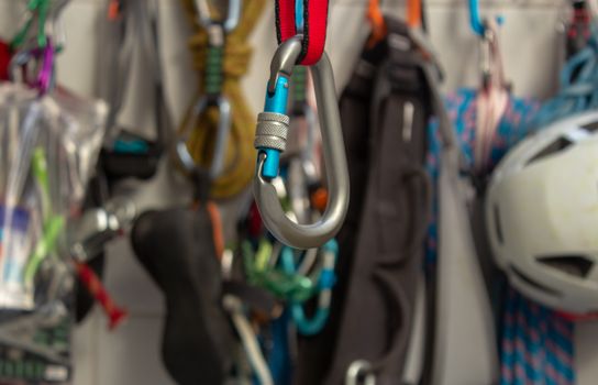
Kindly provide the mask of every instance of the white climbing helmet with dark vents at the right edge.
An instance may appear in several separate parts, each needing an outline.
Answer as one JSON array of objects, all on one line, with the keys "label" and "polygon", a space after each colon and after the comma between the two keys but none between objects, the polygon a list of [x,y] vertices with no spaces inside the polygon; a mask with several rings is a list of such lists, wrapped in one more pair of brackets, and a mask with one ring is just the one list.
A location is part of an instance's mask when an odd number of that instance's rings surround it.
[{"label": "white climbing helmet with dark vents at the right edge", "polygon": [[598,112],[519,143],[485,205],[495,260],[518,290],[558,310],[598,311]]}]

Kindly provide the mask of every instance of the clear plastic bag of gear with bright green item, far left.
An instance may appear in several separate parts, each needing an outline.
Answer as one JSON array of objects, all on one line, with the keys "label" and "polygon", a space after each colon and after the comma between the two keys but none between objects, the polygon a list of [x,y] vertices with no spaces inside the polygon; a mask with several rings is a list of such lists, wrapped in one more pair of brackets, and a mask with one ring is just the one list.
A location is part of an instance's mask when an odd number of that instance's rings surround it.
[{"label": "clear plastic bag of gear with bright green item, far left", "polygon": [[64,89],[0,84],[0,383],[66,384],[73,264],[107,107]]}]

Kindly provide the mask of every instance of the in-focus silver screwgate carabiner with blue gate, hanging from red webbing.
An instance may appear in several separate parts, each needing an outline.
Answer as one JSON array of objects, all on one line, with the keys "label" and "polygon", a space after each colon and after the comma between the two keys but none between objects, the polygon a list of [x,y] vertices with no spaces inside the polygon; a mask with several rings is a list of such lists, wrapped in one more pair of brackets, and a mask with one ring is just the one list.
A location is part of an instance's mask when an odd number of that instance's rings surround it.
[{"label": "in-focus silver screwgate carabiner with blue gate, hanging from red webbing", "polygon": [[286,216],[272,179],[278,175],[280,153],[286,148],[289,77],[300,54],[298,35],[280,44],[272,61],[265,111],[257,118],[254,142],[258,150],[254,195],[262,219],[276,239],[296,249],[312,249],[336,235],[343,224],[348,207],[348,172],[332,66],[324,53],[310,69],[322,130],[329,201],[315,223],[299,224]]}]

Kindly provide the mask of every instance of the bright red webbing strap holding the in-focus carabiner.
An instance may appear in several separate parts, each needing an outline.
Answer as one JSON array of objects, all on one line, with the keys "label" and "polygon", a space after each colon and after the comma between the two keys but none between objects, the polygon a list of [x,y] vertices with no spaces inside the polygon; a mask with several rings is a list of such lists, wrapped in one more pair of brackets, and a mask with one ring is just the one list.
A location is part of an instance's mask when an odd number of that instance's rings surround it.
[{"label": "bright red webbing strap holding the in-focus carabiner", "polygon": [[[276,0],[276,34],[279,44],[297,35],[295,1]],[[328,2],[303,0],[303,51],[299,64],[313,65],[322,57],[326,42]]]}]

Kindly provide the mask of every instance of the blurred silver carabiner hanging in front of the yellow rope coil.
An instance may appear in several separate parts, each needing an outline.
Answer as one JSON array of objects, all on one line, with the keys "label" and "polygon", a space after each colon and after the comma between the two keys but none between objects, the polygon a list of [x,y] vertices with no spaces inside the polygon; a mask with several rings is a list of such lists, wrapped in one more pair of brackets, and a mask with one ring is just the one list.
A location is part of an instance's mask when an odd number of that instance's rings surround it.
[{"label": "blurred silver carabiner hanging in front of the yellow rope coil", "polygon": [[[203,97],[195,106],[191,117],[201,117],[206,109],[210,106],[218,107],[219,111],[219,121],[218,121],[218,134],[214,144],[214,152],[212,157],[212,163],[210,165],[210,178],[215,179],[219,177],[224,169],[224,155],[226,154],[226,142],[229,140],[229,134],[231,132],[231,103],[229,99],[223,96],[220,96],[213,100],[209,100],[208,97]],[[187,147],[187,140],[191,134],[191,128],[193,119],[190,118],[187,122],[185,129],[182,130],[178,142],[176,144],[176,154],[177,157],[185,168],[186,172],[192,173],[198,168],[196,161],[189,153]]]}]

